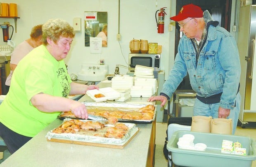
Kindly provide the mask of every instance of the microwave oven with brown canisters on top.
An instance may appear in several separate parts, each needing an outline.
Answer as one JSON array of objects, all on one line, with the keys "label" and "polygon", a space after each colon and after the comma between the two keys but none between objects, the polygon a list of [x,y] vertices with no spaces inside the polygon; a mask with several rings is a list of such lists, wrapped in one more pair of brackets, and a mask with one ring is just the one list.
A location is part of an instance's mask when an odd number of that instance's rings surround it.
[{"label": "microwave oven with brown canisters on top", "polygon": [[157,67],[160,70],[160,54],[140,54],[130,53],[129,54],[129,71],[134,71],[136,65],[143,65],[147,67]]}]

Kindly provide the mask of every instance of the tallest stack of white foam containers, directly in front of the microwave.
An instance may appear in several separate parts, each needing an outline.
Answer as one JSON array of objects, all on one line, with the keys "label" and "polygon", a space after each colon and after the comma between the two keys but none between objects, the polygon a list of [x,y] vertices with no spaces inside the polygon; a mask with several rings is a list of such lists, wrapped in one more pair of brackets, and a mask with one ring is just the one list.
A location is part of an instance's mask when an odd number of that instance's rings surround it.
[{"label": "tallest stack of white foam containers, directly in front of the microwave", "polygon": [[142,78],[154,78],[154,68],[143,65],[136,65],[134,76]]}]

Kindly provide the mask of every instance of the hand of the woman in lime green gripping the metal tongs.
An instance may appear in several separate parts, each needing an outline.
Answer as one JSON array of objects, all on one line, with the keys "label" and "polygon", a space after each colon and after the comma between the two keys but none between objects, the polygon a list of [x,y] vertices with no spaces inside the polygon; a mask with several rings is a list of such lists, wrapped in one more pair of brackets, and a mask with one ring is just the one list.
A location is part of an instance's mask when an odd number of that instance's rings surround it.
[{"label": "hand of the woman in lime green gripping the metal tongs", "polygon": [[70,110],[73,114],[75,114],[76,117],[88,119],[88,112],[85,107],[85,104],[73,100],[73,102],[71,103]]}]

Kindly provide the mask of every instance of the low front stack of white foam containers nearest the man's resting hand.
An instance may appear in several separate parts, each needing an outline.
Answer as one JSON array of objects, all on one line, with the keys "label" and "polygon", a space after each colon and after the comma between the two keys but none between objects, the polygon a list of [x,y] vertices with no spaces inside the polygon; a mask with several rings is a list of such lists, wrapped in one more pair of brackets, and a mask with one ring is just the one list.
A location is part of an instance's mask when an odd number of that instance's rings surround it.
[{"label": "low front stack of white foam containers nearest the man's resting hand", "polygon": [[130,88],[131,97],[151,97],[153,95],[152,86],[132,86]]}]

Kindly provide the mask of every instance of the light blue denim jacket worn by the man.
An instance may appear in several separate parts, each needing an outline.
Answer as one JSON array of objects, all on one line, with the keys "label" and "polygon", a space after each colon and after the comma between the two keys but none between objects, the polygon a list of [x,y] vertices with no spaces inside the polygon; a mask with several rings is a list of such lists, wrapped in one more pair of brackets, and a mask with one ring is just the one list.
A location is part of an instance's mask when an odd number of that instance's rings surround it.
[{"label": "light blue denim jacket worn by the man", "polygon": [[173,69],[161,93],[171,97],[188,73],[190,85],[198,96],[209,97],[222,93],[220,107],[233,109],[241,74],[237,43],[227,30],[217,26],[218,22],[213,21],[207,12],[204,12],[207,37],[199,51],[198,63],[197,51],[191,39],[183,35]]}]

